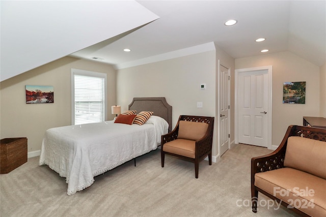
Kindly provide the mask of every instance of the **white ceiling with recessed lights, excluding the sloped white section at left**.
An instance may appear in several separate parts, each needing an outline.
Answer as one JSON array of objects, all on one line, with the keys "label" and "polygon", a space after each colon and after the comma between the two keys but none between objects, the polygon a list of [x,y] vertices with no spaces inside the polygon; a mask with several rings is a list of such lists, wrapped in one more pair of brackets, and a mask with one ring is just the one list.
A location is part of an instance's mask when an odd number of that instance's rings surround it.
[{"label": "white ceiling with recessed lights, excluding the sloped white section at left", "polygon": [[[326,1],[137,1],[160,18],[74,52],[126,63],[214,42],[233,58],[290,51],[321,66],[326,60]],[[228,19],[234,26],[225,26]],[[255,39],[266,38],[257,43]],[[131,52],[124,52],[124,48]],[[98,60],[97,60],[98,61]]]}]

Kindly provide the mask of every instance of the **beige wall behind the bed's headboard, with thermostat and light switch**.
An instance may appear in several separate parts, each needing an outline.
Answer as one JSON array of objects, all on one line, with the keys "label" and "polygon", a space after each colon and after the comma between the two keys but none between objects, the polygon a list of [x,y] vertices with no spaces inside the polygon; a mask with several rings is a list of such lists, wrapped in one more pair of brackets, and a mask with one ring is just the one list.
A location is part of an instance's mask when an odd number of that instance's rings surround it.
[{"label": "beige wall behind the bed's headboard, with thermostat and light switch", "polygon": [[[118,104],[126,110],[133,97],[165,97],[172,129],[182,114],[215,116],[215,67],[215,51],[208,51],[118,70]],[[202,83],[206,89],[200,89]]]}]

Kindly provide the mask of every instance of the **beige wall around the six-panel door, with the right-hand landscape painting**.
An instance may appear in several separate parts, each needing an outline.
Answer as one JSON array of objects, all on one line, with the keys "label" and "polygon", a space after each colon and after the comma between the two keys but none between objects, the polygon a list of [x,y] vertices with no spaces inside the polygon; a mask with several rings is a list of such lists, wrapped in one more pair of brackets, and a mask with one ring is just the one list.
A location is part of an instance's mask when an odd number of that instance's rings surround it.
[{"label": "beige wall around the six-panel door, with the right-hand landscape painting", "polygon": [[[273,66],[272,145],[278,146],[289,125],[303,125],[303,116],[319,116],[319,67],[291,52],[235,59],[235,69]],[[283,82],[306,81],[306,104],[283,104]]]}]

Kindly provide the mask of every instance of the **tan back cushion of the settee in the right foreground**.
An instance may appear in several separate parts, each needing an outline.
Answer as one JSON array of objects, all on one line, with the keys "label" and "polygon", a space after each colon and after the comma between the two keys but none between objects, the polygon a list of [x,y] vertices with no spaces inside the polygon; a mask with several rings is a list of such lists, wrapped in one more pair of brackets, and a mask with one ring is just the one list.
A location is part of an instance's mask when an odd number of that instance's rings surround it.
[{"label": "tan back cushion of the settee in the right foreground", "polygon": [[291,136],[287,140],[284,167],[326,179],[326,142]]}]

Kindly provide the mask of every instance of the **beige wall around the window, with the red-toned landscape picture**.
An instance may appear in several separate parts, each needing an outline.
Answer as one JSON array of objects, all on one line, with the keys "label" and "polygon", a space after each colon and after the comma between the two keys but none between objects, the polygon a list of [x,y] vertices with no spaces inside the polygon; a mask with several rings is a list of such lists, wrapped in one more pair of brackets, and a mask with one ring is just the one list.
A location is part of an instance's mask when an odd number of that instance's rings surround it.
[{"label": "beige wall around the window, with the red-toned landscape picture", "polygon": [[[116,103],[116,72],[95,61],[64,57],[1,82],[1,138],[27,137],[28,151],[41,149],[44,132],[71,125],[71,68],[107,73],[108,119]],[[26,104],[25,85],[51,85],[55,103]]]}]

